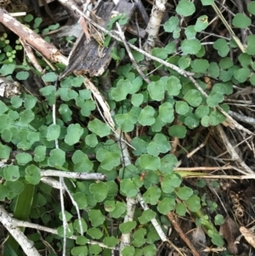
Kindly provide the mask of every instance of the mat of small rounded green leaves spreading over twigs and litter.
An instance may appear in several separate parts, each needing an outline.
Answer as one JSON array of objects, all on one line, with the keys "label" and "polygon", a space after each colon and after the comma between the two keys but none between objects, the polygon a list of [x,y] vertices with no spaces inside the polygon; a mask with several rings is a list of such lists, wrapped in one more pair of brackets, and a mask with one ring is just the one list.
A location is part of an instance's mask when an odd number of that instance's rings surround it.
[{"label": "mat of small rounded green leaves spreading over twigs and litter", "polygon": [[[213,0],[201,0],[203,6],[213,3]],[[169,75],[159,77],[147,74],[151,82],[146,84],[132,65],[122,64],[121,60],[126,54],[124,48],[111,50],[111,57],[117,62],[116,76],[113,76],[115,80],[105,100],[110,105],[116,128],[133,136],[130,142],[133,148],[128,148],[132,162],[127,166],[122,165],[122,159],[126,157],[123,148],[118,146],[118,141],[114,140],[114,131],[99,115],[91,92],[84,88],[82,77],[65,77],[60,87],[55,88],[59,70],[46,71],[42,81],[47,82],[48,86],[40,89],[42,101],[26,93],[15,95],[9,101],[0,100],[0,158],[13,162],[0,173],[4,179],[0,185],[2,201],[6,198],[17,200],[26,191],[26,185],[34,186],[37,194],[30,195],[30,202],[33,202],[29,217],[42,219],[45,224],[60,225],[62,215],[59,214],[59,202],[52,198],[49,186],[42,186],[41,171],[59,169],[62,172],[102,173],[106,176],[106,180],[100,181],[65,179],[82,213],[83,233],[76,209],[71,208],[70,213],[65,213],[69,227],[67,236],[77,236],[71,255],[108,255],[105,248],[89,244],[88,240],[98,240],[106,247],[115,247],[119,244],[117,232],[132,233],[131,245],[122,250],[122,255],[156,255],[154,243],[160,238],[150,225],[151,219],[156,218],[163,225],[162,219],[171,211],[179,216],[195,216],[205,206],[211,212],[217,208],[215,203],[203,200],[197,191],[183,185],[182,178],[173,172],[178,159],[171,153],[171,141],[174,138],[186,139],[190,130],[199,126],[216,126],[224,122],[225,117],[217,107],[229,110],[228,105],[222,103],[226,95],[233,93],[232,84],[255,84],[255,64],[252,62],[255,36],[247,37],[246,53],[239,54],[236,61],[231,60],[229,54],[235,48],[234,43],[219,38],[211,48],[218,54],[218,63],[207,60],[210,53],[201,43],[201,32],[207,30],[210,20],[207,15],[196,15],[194,20],[192,15],[195,14],[195,8],[192,1],[178,1],[176,15],[162,26],[166,34],[171,33],[174,39],[180,38],[180,54],[176,54],[174,42],[167,42],[163,48],[153,48],[151,54],[193,73],[200,90],[187,77],[156,61],[156,68]],[[255,14],[254,8],[252,1],[247,6],[251,15]],[[189,16],[192,16],[192,25],[180,26],[180,21]],[[24,20],[26,23],[33,22],[34,29],[42,22],[42,19],[34,19],[31,14]],[[247,28],[251,26],[251,20],[245,14],[235,14],[232,25],[238,29]],[[111,30],[116,21],[120,24],[127,22],[122,15],[113,16],[107,28]],[[49,26],[44,32],[58,26]],[[132,40],[130,43],[136,42]],[[26,80],[31,68],[26,64],[18,66],[15,63],[20,43],[11,47],[7,34],[3,33],[0,49],[0,61],[4,60],[0,68],[1,75],[13,75],[20,81]],[[134,50],[132,53],[138,64],[141,64],[144,55]],[[212,83],[212,88],[209,88],[204,76],[218,82]],[[96,79],[94,81],[98,82]],[[100,85],[99,82],[98,88],[104,94]],[[201,90],[208,97],[201,94]],[[52,106],[55,103],[57,120],[53,122]],[[55,146],[56,140],[59,148]],[[11,154],[13,150],[17,151],[15,156]],[[201,180],[197,185],[202,187],[205,184]],[[149,209],[137,209],[134,219],[124,222],[126,198],[136,198],[139,190]],[[53,213],[47,213],[49,207]],[[119,224],[118,230],[111,235],[110,221]],[[201,218],[200,222],[206,225],[208,219]],[[223,216],[215,216],[215,225],[223,222]],[[63,227],[59,227],[58,234],[64,236]],[[59,239],[59,236],[52,239]],[[224,245],[216,230],[208,229],[208,236],[213,244],[220,247]]]}]

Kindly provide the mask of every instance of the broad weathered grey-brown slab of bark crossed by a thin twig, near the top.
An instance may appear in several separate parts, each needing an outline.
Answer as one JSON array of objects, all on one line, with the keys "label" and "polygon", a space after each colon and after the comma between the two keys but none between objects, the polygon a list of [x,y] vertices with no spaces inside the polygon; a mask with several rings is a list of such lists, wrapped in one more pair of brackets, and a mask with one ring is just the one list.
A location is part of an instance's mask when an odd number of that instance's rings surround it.
[{"label": "broad weathered grey-brown slab of bark crossed by a thin twig, near the top", "polygon": [[[129,19],[134,10],[135,4],[127,3],[126,0],[121,0],[117,5],[112,2],[100,2],[96,11],[96,15],[105,21],[105,26],[111,20],[113,11],[119,14],[126,14]],[[122,30],[125,26],[122,27]],[[111,48],[116,46],[116,41],[111,40],[107,48],[103,48],[103,52],[99,53],[99,43],[96,42],[94,37],[88,42],[86,36],[77,39],[75,48],[72,49],[69,57],[69,65],[61,74],[60,79],[68,76],[71,72],[76,71],[76,74],[84,75],[89,74],[90,77],[98,77],[103,74],[107,66],[111,62]],[[103,55],[102,55],[103,54]]]}]

